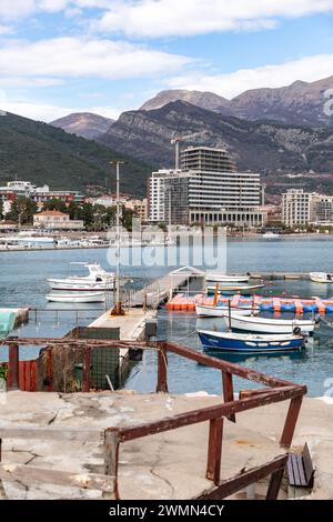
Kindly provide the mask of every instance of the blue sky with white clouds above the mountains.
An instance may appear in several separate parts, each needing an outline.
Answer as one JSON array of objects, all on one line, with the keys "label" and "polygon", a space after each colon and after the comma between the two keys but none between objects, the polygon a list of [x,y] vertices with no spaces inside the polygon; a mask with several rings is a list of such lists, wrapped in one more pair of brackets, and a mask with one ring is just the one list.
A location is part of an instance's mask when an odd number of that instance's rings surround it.
[{"label": "blue sky with white clouds above the mountains", "polygon": [[333,74],[333,0],[0,0],[0,110],[117,119],[164,89]]}]

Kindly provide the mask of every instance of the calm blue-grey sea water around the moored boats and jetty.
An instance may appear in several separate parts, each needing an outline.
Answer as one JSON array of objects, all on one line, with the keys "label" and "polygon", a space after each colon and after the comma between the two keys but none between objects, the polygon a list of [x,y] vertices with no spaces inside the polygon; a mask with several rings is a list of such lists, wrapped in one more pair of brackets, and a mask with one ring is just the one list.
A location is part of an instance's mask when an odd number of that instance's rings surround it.
[{"label": "calm blue-grey sea water around the moored boats and jetty", "polygon": [[[0,253],[0,308],[1,307],[34,307],[39,310],[59,309],[59,304],[47,304],[46,294],[49,291],[47,278],[67,277],[69,263],[75,261],[98,261],[105,270],[111,270],[107,250],[69,250],[39,252],[6,252]],[[232,239],[228,241],[229,271],[332,271],[333,240],[331,238],[315,239]],[[132,277],[132,284],[140,287],[154,278],[170,271],[170,267],[132,267],[123,272]],[[278,281],[268,284],[266,294],[300,297],[333,297],[333,288],[301,281]],[[77,305],[62,307],[62,311],[38,312],[31,315],[29,324],[17,333],[34,337],[61,337],[77,324],[87,325],[102,313],[103,307]],[[333,321],[330,315],[329,321]],[[219,319],[196,319],[193,313],[159,312],[159,335],[161,339],[172,339],[176,342],[201,350],[195,335],[196,328],[216,328],[223,330]],[[37,350],[26,348],[22,358],[37,355]],[[221,355],[220,355],[221,357]],[[322,323],[320,331],[307,345],[304,353],[279,357],[223,355],[233,362],[240,362],[248,368],[305,383],[309,394],[323,395],[333,379],[333,329]],[[7,358],[7,349],[0,349],[0,359]],[[201,367],[176,355],[170,355],[169,378],[170,390],[175,393],[205,390],[216,393],[221,390],[220,372]],[[138,391],[153,391],[155,385],[154,354],[147,353],[143,361],[131,372],[127,388]],[[236,389],[250,388],[245,381],[236,381]]]}]

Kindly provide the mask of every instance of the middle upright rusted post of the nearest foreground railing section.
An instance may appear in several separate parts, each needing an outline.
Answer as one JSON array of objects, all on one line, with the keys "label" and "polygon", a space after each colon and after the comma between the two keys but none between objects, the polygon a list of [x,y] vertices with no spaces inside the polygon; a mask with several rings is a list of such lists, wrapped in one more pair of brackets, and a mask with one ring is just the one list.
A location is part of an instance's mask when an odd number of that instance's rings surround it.
[{"label": "middle upright rusted post of the nearest foreground railing section", "polygon": [[210,421],[206,478],[215,485],[220,483],[221,474],[223,422],[223,418]]}]

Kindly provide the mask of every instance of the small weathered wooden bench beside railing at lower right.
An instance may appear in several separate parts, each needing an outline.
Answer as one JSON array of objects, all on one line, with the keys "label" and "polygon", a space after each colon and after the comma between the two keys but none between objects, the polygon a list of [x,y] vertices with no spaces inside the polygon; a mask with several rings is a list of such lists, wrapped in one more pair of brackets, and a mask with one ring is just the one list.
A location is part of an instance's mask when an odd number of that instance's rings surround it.
[{"label": "small weathered wooden bench beside railing at lower right", "polygon": [[312,489],[314,471],[307,444],[304,445],[301,455],[290,453],[287,459],[287,478],[290,485]]}]

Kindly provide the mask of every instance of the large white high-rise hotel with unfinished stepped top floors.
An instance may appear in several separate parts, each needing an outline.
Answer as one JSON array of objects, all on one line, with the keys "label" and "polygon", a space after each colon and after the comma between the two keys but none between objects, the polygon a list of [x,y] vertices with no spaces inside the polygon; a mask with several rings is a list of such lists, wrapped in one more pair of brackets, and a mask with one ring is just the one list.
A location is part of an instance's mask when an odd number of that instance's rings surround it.
[{"label": "large white high-rise hotel with unfinished stepped top floors", "polygon": [[181,167],[179,171],[152,173],[149,180],[150,221],[265,224],[260,174],[236,172],[225,150],[188,148],[181,154]]}]

